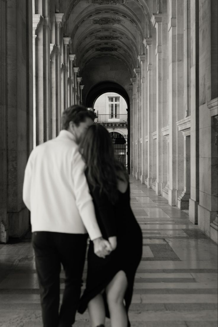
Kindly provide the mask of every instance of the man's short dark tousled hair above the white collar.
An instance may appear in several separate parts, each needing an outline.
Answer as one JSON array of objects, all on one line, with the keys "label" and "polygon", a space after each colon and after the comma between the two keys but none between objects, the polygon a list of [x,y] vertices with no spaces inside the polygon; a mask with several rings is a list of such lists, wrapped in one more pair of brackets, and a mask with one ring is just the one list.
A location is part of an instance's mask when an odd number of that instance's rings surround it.
[{"label": "man's short dark tousled hair above the white collar", "polygon": [[88,110],[84,106],[73,105],[65,109],[61,115],[62,129],[68,129],[69,124],[72,121],[76,126],[79,126],[81,122],[84,122],[86,118],[94,120],[96,114]]}]

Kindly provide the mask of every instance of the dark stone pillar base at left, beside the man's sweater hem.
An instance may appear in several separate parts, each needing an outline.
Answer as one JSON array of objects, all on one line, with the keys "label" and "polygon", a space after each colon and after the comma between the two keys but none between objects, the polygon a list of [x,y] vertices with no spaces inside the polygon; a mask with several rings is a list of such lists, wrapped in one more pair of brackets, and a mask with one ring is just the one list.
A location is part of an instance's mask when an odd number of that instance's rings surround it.
[{"label": "dark stone pillar base at left, beside the man's sweater hem", "polygon": [[11,212],[9,215],[9,236],[21,237],[29,229],[29,210],[22,209],[19,212]]}]

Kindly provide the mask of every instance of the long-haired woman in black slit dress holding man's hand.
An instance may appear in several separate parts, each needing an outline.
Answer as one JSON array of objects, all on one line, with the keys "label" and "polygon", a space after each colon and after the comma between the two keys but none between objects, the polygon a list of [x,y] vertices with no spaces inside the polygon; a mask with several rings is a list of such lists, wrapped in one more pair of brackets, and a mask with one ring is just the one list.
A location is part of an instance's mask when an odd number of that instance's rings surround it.
[{"label": "long-haired woman in black slit dress holding man's hand", "polygon": [[92,327],[103,327],[105,316],[112,327],[127,327],[134,276],[142,256],[142,232],[130,207],[128,176],[115,159],[111,137],[103,126],[88,128],[80,152],[102,236],[115,250],[99,258],[90,242],[86,289],[78,311],[83,313],[88,307]]}]

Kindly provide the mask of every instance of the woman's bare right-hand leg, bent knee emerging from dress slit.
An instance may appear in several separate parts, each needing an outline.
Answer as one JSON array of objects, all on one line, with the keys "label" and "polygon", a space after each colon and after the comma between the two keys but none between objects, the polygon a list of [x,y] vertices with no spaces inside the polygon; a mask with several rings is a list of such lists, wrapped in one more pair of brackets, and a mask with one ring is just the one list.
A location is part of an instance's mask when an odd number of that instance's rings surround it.
[{"label": "woman's bare right-hand leg, bent knee emerging from dress slit", "polygon": [[120,270],[106,287],[111,327],[127,327],[128,320],[123,303],[127,285],[126,274],[123,270]]}]

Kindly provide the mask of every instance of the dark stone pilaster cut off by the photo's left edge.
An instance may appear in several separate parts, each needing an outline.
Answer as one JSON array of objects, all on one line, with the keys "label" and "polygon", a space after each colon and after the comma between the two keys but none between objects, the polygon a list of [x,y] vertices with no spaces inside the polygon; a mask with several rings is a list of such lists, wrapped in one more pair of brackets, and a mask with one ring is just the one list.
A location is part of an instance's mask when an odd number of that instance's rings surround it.
[{"label": "dark stone pilaster cut off by the photo's left edge", "polygon": [[0,242],[9,236],[7,178],[7,2],[0,6]]}]

